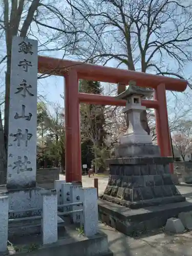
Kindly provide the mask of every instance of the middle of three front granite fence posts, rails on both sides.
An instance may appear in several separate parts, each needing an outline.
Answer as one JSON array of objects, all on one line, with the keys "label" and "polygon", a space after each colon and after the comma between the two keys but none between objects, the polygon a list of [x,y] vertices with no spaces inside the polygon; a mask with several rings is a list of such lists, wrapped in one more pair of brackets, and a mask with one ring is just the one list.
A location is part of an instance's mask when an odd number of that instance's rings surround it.
[{"label": "middle of three front granite fence posts, rails on both sides", "polygon": [[57,242],[57,193],[55,189],[42,194],[42,241],[43,244]]}]

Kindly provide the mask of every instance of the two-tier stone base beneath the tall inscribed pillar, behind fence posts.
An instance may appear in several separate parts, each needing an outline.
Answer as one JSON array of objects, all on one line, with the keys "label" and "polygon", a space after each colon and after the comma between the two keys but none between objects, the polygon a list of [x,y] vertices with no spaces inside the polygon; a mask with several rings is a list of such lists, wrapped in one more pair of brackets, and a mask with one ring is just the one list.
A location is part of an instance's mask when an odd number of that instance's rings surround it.
[{"label": "two-tier stone base beneath the tall inscribed pillar, behind fence posts", "polygon": [[[40,216],[42,210],[42,190],[34,187],[25,189],[7,189],[0,186],[0,194],[9,197],[9,222],[8,238],[41,233],[41,219],[28,219],[14,222],[14,219]],[[19,219],[18,219],[19,220]],[[64,221],[57,216],[58,230],[65,231]]]}]

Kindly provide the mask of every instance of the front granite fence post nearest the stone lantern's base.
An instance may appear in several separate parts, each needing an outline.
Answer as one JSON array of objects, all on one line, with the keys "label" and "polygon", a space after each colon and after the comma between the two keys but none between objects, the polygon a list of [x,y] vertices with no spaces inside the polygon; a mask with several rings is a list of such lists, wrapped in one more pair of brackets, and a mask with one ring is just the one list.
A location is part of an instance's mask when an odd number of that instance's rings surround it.
[{"label": "front granite fence post nearest the stone lantern's base", "polygon": [[80,188],[83,196],[84,234],[91,237],[98,231],[98,205],[96,188]]}]

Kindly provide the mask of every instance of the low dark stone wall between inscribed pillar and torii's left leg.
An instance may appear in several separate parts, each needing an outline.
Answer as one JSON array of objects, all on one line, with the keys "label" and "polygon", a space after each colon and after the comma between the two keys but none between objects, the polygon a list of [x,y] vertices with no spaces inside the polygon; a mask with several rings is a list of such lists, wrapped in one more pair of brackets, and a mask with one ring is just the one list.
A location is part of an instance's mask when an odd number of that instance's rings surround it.
[{"label": "low dark stone wall between inscribed pillar and torii's left leg", "polygon": [[54,183],[55,180],[59,180],[59,171],[60,168],[37,169],[37,184]]}]

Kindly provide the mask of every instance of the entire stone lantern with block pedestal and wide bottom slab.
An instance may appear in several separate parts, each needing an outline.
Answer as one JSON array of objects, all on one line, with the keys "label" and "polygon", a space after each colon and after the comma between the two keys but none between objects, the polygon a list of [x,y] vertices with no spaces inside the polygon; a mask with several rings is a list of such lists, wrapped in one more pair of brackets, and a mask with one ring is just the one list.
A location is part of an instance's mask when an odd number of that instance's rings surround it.
[{"label": "entire stone lantern with block pedestal and wide bottom slab", "polygon": [[117,96],[126,100],[127,131],[116,145],[116,158],[108,160],[110,178],[99,200],[100,219],[128,235],[162,227],[167,219],[192,209],[173,183],[169,169],[173,158],[160,156],[159,146],[153,145],[141,124],[141,113],[146,111],[141,99],[152,91],[137,88],[135,82],[129,86]]}]

